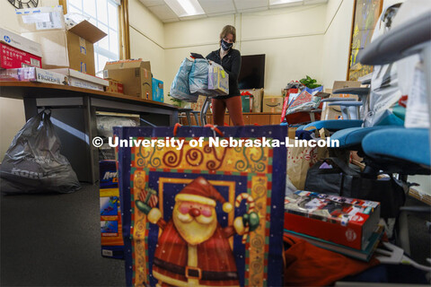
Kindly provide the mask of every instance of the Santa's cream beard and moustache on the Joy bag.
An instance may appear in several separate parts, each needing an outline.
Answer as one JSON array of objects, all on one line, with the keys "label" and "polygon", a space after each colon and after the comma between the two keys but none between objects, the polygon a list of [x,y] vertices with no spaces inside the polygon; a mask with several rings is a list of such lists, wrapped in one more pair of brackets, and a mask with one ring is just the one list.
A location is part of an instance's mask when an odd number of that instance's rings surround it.
[{"label": "Santa's cream beard and moustache on the Joy bag", "polygon": [[175,204],[172,219],[182,239],[191,245],[198,245],[210,239],[217,227],[215,209],[212,211],[211,216],[200,214],[197,217],[193,217],[189,213],[180,213],[178,204]]}]

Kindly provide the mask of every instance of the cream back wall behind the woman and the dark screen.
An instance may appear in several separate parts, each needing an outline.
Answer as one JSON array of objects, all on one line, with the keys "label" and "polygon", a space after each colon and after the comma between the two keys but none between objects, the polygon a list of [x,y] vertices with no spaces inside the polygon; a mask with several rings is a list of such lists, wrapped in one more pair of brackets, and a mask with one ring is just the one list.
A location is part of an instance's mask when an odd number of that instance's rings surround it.
[{"label": "cream back wall behind the woman and the dark screen", "polygon": [[[180,62],[189,52],[207,56],[218,46],[224,25],[237,30],[235,48],[242,55],[266,54],[265,94],[281,95],[291,80],[309,74],[321,81],[321,42],[326,4],[291,7],[256,13],[172,22],[164,25],[166,45],[165,87],[170,87]],[[165,88],[165,89],[166,89]]]}]

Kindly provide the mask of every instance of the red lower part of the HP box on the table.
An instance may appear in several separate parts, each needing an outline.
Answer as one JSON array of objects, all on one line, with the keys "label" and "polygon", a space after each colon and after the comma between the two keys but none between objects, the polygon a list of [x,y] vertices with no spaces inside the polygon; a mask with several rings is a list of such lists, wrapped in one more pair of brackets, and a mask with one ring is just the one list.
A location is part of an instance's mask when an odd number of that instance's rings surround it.
[{"label": "red lower part of the HP box on the table", "polygon": [[26,66],[41,67],[41,57],[0,43],[0,68],[13,69]]}]

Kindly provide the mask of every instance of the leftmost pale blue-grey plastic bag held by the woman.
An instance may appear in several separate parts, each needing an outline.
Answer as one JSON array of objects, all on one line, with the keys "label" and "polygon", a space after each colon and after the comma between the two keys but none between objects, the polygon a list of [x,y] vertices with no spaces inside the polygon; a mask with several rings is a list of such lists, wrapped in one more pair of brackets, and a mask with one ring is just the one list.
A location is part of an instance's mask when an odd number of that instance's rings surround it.
[{"label": "leftmost pale blue-grey plastic bag held by the woman", "polygon": [[171,97],[178,100],[195,102],[198,95],[191,95],[189,89],[189,73],[193,61],[187,57],[182,61],[178,73],[175,75],[171,85]]}]

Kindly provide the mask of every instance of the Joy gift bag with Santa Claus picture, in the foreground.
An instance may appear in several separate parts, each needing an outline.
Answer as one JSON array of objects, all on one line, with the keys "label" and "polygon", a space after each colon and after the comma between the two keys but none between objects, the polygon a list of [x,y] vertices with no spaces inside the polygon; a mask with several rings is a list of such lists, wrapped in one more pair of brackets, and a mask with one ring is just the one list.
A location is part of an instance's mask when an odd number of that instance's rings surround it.
[{"label": "Joy gift bag with Santa Claus picture, in the foreground", "polygon": [[172,127],[115,128],[119,141],[184,140],[180,149],[118,149],[128,286],[283,284],[286,147],[208,139],[284,142],[286,126],[219,129],[181,126],[174,136]]}]

